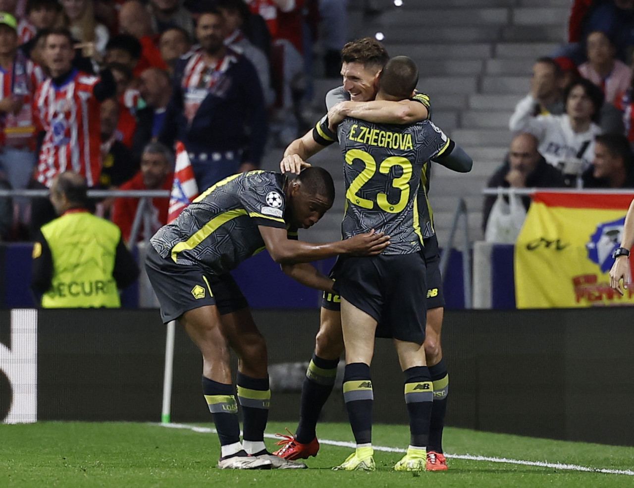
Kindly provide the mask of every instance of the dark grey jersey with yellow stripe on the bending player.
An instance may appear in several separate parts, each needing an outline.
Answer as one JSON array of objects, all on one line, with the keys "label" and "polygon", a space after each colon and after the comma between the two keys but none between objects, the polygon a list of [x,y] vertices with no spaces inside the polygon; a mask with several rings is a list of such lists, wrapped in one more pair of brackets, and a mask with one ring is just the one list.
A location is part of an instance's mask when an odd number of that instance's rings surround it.
[{"label": "dark grey jersey with yellow stripe on the bending player", "polygon": [[[257,226],[288,228],[284,221],[285,177],[261,170],[235,174],[204,191],[150,242],[177,264],[200,264],[228,273],[264,249]],[[288,231],[296,238],[297,229]]]}]

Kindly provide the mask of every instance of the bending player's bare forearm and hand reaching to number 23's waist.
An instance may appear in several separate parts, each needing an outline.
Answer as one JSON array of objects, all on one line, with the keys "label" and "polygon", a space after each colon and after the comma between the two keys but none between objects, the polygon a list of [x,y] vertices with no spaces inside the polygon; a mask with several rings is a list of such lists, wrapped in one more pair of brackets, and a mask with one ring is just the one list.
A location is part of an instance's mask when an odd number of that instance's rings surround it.
[{"label": "bending player's bare forearm and hand reaching to number 23's waist", "polygon": [[262,225],[258,228],[271,258],[284,265],[317,261],[339,254],[380,254],[390,243],[389,236],[374,230],[342,241],[313,244],[289,239],[286,229]]}]

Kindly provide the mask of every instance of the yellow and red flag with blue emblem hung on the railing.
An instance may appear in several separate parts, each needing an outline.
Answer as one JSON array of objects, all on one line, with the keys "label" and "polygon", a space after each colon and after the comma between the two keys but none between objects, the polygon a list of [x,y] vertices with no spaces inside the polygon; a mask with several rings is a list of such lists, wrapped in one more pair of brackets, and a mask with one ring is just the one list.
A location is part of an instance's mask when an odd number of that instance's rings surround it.
[{"label": "yellow and red flag with blue emblem hung on the railing", "polygon": [[610,287],[632,195],[538,192],[515,243],[519,309],[634,304]]}]

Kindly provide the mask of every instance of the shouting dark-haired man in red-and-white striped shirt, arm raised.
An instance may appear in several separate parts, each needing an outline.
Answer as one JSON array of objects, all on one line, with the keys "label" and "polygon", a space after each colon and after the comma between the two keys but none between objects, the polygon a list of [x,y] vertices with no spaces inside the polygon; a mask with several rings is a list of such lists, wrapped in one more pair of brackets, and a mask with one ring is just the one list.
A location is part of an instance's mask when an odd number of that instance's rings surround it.
[{"label": "shouting dark-haired man in red-and-white striped shirt, arm raised", "polygon": [[[88,186],[99,182],[101,173],[100,103],[115,95],[110,70],[100,76],[73,67],[73,39],[66,29],[46,36],[44,58],[51,78],[37,89],[34,121],[42,132],[36,179],[40,188],[50,188],[53,178],[68,169],[81,174]],[[32,202],[32,229],[55,217],[48,200]]]}]

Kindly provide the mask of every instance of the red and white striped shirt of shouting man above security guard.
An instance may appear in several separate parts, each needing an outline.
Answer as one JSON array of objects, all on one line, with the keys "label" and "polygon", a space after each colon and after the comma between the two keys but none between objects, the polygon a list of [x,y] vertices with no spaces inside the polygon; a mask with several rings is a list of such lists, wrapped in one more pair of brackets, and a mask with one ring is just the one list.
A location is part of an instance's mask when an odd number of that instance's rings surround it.
[{"label": "red and white striped shirt of shouting man above security guard", "polygon": [[75,69],[63,85],[47,79],[37,90],[34,119],[36,127],[46,131],[37,181],[49,188],[53,178],[67,170],[84,176],[89,187],[99,182],[101,104],[93,93],[99,80]]}]

